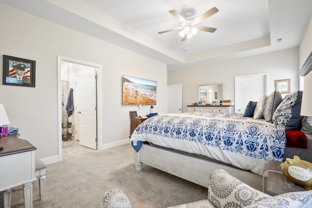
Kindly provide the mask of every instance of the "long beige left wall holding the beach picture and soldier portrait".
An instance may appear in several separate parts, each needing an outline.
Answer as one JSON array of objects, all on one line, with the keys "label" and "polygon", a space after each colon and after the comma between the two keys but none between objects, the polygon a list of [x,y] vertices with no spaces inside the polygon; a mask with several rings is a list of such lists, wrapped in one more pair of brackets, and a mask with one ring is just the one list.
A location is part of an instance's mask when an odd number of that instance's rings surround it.
[{"label": "long beige left wall holding the beach picture and soldier portrait", "polygon": [[150,112],[150,106],[121,105],[122,75],[157,81],[154,112],[167,113],[166,64],[1,3],[0,25],[0,55],[36,60],[36,87],[0,85],[0,103],[10,119],[9,126],[20,128],[22,138],[37,148],[37,157],[58,155],[58,55],[102,65],[100,146],[129,141],[129,111]]}]

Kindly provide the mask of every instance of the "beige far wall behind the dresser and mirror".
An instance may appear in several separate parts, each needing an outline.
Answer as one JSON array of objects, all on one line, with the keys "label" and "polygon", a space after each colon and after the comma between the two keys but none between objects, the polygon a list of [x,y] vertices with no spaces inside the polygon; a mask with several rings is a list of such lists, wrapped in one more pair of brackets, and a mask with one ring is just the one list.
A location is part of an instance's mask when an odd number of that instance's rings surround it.
[{"label": "beige far wall behind the dresser and mirror", "polygon": [[269,92],[274,91],[275,79],[291,79],[291,91],[298,90],[298,47],[236,58],[203,66],[168,72],[168,84],[182,84],[182,112],[187,105],[198,101],[198,85],[225,83],[224,99],[234,102],[235,76],[269,73]]}]

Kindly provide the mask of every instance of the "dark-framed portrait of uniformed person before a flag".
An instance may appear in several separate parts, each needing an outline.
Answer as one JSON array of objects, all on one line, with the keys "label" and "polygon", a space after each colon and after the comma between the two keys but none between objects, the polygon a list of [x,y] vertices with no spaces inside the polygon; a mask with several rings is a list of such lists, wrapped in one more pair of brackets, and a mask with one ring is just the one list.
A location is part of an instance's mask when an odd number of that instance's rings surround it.
[{"label": "dark-framed portrait of uniformed person before a flag", "polygon": [[36,61],[3,55],[3,85],[35,87]]}]

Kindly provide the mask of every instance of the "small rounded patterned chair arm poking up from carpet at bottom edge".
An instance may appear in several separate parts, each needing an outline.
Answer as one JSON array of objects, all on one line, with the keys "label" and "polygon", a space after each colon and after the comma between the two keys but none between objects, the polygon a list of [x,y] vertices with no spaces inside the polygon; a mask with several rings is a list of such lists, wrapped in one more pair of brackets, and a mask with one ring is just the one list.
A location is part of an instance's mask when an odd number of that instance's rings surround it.
[{"label": "small rounded patterned chair arm poking up from carpet at bottom edge", "polygon": [[109,189],[104,194],[103,208],[132,208],[132,206],[122,190]]}]

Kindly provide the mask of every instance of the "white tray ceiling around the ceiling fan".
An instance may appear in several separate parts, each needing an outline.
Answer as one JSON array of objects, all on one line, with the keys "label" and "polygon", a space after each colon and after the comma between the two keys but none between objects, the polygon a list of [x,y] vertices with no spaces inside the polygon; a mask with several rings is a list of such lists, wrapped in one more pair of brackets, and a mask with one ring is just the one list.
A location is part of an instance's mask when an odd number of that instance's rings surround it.
[{"label": "white tray ceiling around the ceiling fan", "polygon": [[[299,46],[312,17],[312,0],[0,0],[25,12],[168,64],[168,70]],[[219,12],[181,42],[180,26],[169,13],[196,18]],[[282,38],[281,42],[277,42]],[[187,51],[184,49],[188,48]]]}]

